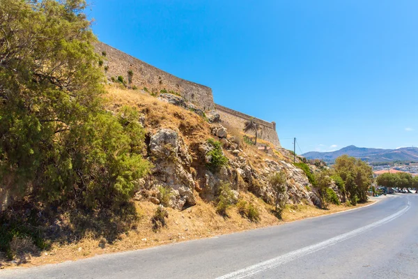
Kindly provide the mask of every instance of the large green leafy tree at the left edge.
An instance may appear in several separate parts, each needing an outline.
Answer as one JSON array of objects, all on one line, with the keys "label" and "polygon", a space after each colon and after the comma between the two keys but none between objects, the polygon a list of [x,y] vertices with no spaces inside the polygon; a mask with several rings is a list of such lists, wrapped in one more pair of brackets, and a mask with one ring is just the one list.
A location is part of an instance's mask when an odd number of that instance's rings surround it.
[{"label": "large green leafy tree at the left edge", "polygon": [[0,1],[0,183],[44,202],[127,202],[149,164],[137,112],[102,109],[83,0]]}]

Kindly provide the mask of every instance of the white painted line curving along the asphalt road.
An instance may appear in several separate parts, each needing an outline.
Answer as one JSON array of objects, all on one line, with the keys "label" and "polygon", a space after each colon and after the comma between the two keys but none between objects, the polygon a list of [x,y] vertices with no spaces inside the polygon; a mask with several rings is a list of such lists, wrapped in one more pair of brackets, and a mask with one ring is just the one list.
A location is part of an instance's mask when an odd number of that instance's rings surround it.
[{"label": "white painted line curving along the asphalt road", "polygon": [[408,211],[410,209],[410,200],[408,199],[408,204],[404,209],[401,209],[400,211],[392,214],[391,216],[388,216],[386,218],[383,218],[382,220],[378,220],[375,223],[371,223],[370,225],[366,225],[364,227],[360,227],[358,229],[355,229],[351,232],[347,232],[346,234],[340,234],[339,236],[335,236],[332,239],[328,239],[326,241],[316,243],[311,246],[307,246],[304,248],[300,248],[298,250],[295,250],[293,252],[288,252],[287,254],[281,255],[279,257],[274,257],[273,259],[268,259],[265,262],[260,262],[258,264],[254,264],[252,266],[248,266],[245,269],[240,269],[238,271],[233,271],[231,273],[228,273],[224,276],[218,277],[217,279],[239,279],[239,278],[246,278],[249,276],[254,276],[256,273],[260,273],[262,271],[273,269],[277,266],[280,266],[281,264],[286,264],[287,262],[291,262],[294,259],[300,258],[304,255],[311,254],[313,252],[316,252],[318,250],[322,250],[324,248],[327,248],[329,246],[332,246],[336,243],[339,243],[341,241],[345,241],[346,239],[350,239],[354,236],[357,236],[358,234],[362,234],[363,232],[366,232],[369,229],[373,229],[375,227],[378,227],[380,225],[383,225],[385,223],[389,223],[390,221],[398,218],[403,213]]}]

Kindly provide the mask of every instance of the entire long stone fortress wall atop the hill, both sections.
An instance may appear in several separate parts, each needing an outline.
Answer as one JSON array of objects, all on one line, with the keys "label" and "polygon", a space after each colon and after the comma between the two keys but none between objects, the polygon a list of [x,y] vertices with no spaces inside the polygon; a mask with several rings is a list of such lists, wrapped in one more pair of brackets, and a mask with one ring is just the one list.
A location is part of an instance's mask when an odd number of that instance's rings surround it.
[{"label": "entire long stone fortress wall atop the hill, both sections", "polygon": [[[117,80],[118,76],[122,76],[127,86],[131,88],[136,86],[138,89],[144,89],[146,87],[150,93],[159,93],[165,89],[168,93],[179,94],[187,102],[193,103],[206,112],[216,110],[223,122],[238,130],[244,128],[245,121],[253,118],[253,116],[215,104],[212,89],[208,86],[182,80],[105,43],[96,43],[95,50],[102,56],[102,67],[109,81],[112,77]],[[133,75],[129,74],[130,71]],[[276,123],[255,119],[260,124],[258,137],[280,147]],[[254,135],[251,132],[249,134]]]}]

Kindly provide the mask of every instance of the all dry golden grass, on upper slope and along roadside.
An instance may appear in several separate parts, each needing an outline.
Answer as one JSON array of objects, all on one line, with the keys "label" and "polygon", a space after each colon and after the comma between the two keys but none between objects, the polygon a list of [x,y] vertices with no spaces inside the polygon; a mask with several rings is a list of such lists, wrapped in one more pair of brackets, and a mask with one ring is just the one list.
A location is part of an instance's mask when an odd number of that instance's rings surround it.
[{"label": "all dry golden grass, on upper slope and along roadside", "polygon": [[[192,146],[196,146],[199,142],[204,142],[209,137],[212,137],[210,124],[201,116],[194,114],[194,112],[170,105],[147,93],[141,93],[141,91],[121,89],[114,86],[109,86],[107,91],[108,93],[104,97],[108,110],[117,112],[123,105],[137,107],[145,116],[145,128],[148,131],[153,133],[159,128],[177,130],[183,136],[192,153],[195,149]],[[243,135],[240,131],[232,128],[229,129],[229,133],[230,135]],[[258,151],[256,146],[242,144],[242,149],[246,153],[246,155],[242,154],[242,156],[245,156],[253,167],[263,167],[265,158],[272,158],[272,156],[268,156],[263,151]],[[226,152],[226,156],[233,157],[229,152]],[[281,156],[281,153],[275,153],[273,158],[287,160],[284,156]],[[199,165],[194,167],[199,167]],[[251,193],[240,193],[240,199],[254,204],[260,213],[260,220],[251,222],[247,218],[242,217],[238,212],[237,206],[231,206],[231,208],[227,209],[228,218],[223,218],[216,213],[214,204],[204,202],[199,197],[199,193],[195,193],[195,197],[197,203],[189,209],[184,211],[167,209],[168,218],[164,219],[166,224],[159,229],[155,229],[155,224],[152,222],[157,205],[151,202],[135,202],[135,210],[139,218],[134,220],[131,229],[127,229],[125,233],[119,234],[116,241],[111,243],[107,239],[91,233],[86,234],[84,238],[74,243],[53,243],[49,250],[41,252],[40,255],[31,253],[36,252],[36,250],[31,251],[33,243],[30,241],[16,239],[13,246],[17,252],[26,251],[26,262],[21,266],[38,266],[93,257],[94,255],[104,253],[137,250],[189,239],[201,239],[219,234],[230,234],[247,229],[279,225],[302,218],[353,208],[331,205],[330,209],[325,211],[308,205],[288,206],[282,213],[283,220],[278,220],[272,214],[273,206],[266,204]],[[6,262],[4,258],[0,257],[0,266],[2,265],[15,266],[15,263]]]}]

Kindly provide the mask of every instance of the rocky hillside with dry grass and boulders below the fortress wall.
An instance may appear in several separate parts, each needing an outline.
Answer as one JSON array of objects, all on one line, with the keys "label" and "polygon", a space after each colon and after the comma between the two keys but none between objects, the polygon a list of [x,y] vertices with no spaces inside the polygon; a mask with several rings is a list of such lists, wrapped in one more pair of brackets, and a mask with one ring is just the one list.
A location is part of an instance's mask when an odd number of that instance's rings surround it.
[{"label": "rocky hillside with dry grass and boulders below the fortress wall", "polygon": [[[273,154],[258,151],[245,144],[242,134],[227,130],[219,116],[206,116],[187,104],[180,96],[150,96],[144,91],[109,89],[109,110],[133,105],[141,112],[141,122],[148,131],[147,158],[153,163],[152,173],[139,182],[135,199],[148,199],[160,204],[162,188],[169,188],[169,206],[183,210],[196,203],[196,195],[215,201],[219,187],[229,183],[238,200],[240,192],[250,192],[273,204],[274,195],[269,178],[275,172],[286,172],[288,203],[318,204],[318,197],[302,169],[291,163],[283,149]],[[212,123],[210,123],[212,122]],[[209,139],[222,144],[227,163],[218,169],[208,167],[215,148]],[[309,189],[309,190],[308,190]]]}]

